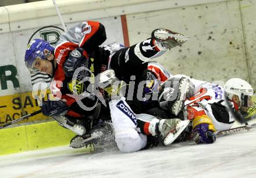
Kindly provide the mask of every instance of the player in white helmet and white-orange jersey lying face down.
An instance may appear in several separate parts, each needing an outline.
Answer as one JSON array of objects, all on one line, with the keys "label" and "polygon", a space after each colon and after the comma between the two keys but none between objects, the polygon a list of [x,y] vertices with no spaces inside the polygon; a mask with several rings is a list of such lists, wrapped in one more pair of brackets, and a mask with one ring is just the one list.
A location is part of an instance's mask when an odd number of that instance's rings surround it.
[{"label": "player in white helmet and white-orange jersey lying face down", "polygon": [[244,115],[254,95],[251,85],[243,79],[229,79],[222,87],[186,75],[174,75],[160,90],[162,108],[193,121],[191,136],[196,143],[214,143],[215,132],[230,129],[234,123],[229,108]]}]

